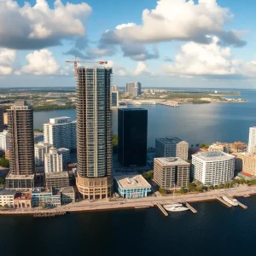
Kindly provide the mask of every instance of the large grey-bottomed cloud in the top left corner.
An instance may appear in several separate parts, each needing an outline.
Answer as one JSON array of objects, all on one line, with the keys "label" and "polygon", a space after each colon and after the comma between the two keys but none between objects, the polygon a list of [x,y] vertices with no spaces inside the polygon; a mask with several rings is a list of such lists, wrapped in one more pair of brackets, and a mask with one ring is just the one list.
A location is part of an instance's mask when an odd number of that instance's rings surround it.
[{"label": "large grey-bottomed cloud in the top left corner", "polygon": [[14,0],[0,1],[0,45],[12,49],[40,49],[61,44],[62,39],[84,36],[83,20],[90,15],[87,3],[55,0],[50,9],[46,0],[24,6]]}]

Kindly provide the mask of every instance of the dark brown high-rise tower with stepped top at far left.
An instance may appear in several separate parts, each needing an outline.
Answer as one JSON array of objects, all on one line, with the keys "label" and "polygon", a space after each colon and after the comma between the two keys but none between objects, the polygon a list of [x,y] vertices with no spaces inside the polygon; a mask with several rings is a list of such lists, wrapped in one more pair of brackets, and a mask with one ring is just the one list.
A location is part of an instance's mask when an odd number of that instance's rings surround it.
[{"label": "dark brown high-rise tower with stepped top at far left", "polygon": [[8,123],[10,175],[7,186],[11,186],[10,189],[29,188],[35,173],[32,108],[26,102],[15,102],[8,109]]}]

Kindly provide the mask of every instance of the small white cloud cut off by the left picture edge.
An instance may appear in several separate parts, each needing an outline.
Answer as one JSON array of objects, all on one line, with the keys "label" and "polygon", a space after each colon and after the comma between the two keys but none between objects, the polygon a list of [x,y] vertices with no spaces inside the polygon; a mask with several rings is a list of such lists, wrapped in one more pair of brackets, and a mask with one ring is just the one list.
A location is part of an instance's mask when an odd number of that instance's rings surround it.
[{"label": "small white cloud cut off by the left picture edge", "polygon": [[13,73],[16,51],[14,49],[0,48],[0,76]]}]

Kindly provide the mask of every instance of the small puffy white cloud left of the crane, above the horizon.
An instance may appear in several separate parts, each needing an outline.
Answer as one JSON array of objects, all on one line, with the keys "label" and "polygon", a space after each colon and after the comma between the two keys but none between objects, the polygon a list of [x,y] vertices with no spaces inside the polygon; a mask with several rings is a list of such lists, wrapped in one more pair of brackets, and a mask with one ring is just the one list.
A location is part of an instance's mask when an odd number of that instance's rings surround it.
[{"label": "small puffy white cloud left of the crane, above the horizon", "polygon": [[49,49],[35,50],[26,55],[26,66],[21,67],[16,74],[33,75],[67,75],[68,67],[62,69]]}]

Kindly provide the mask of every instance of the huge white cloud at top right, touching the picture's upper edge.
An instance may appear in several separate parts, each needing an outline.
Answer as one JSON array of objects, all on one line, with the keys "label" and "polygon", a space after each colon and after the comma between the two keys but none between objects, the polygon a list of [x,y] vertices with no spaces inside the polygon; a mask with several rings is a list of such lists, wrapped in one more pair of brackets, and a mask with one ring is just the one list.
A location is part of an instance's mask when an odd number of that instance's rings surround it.
[{"label": "huge white cloud at top right, touching the picture's upper edge", "polygon": [[226,32],[224,25],[233,18],[230,10],[217,0],[160,0],[155,9],[143,10],[142,25],[134,23],[116,26],[102,35],[102,44],[141,44],[171,40],[209,44],[207,35],[216,35],[222,44],[243,46],[239,32]]}]

